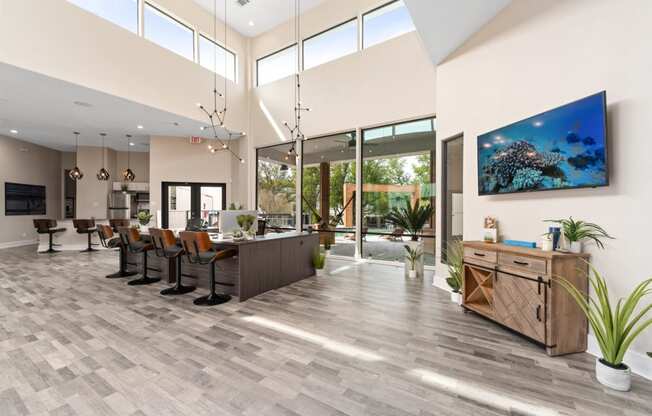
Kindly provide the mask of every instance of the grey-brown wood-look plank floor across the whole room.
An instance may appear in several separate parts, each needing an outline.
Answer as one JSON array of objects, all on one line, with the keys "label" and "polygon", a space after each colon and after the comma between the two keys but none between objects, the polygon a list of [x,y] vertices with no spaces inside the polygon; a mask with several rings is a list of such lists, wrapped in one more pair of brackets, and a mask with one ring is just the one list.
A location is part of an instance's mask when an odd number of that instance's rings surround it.
[{"label": "grey-brown wood-look plank floor across the whole room", "polygon": [[117,253],[0,250],[0,415],[650,415],[395,267],[331,261],[244,303],[103,276]]}]

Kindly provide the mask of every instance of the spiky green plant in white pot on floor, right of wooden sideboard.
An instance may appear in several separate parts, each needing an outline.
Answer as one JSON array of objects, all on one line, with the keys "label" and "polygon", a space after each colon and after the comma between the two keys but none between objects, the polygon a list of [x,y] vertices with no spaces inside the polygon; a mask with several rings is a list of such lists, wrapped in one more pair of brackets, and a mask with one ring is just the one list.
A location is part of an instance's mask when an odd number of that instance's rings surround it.
[{"label": "spiky green plant in white pot on floor, right of wooden sideboard", "polygon": [[598,381],[614,390],[629,391],[631,370],[623,363],[623,358],[636,337],[652,325],[652,318],[643,320],[652,310],[652,304],[634,313],[639,302],[652,293],[652,278],[639,283],[626,299],[618,299],[614,308],[609,300],[607,283],[593,266],[589,266],[592,274],[589,276],[589,283],[593,289],[593,297],[587,297],[562,277],[555,281],[577,302],[595,334],[602,353],[602,358],[595,361]]}]

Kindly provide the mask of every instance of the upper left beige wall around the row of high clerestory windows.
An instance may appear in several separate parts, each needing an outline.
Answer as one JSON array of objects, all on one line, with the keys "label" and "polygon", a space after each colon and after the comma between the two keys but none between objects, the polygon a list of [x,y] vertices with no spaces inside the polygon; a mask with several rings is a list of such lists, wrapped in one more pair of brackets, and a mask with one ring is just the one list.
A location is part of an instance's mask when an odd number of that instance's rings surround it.
[{"label": "upper left beige wall around the row of high clerestory windows", "polygon": [[[202,33],[213,32],[213,19],[194,2],[155,3]],[[195,103],[212,100],[213,72],[66,0],[3,0],[0,8],[0,62],[192,119],[202,120]],[[239,82],[228,83],[227,126],[245,130],[247,41],[234,31],[227,36],[239,60]],[[218,90],[223,85],[218,76]]]}]

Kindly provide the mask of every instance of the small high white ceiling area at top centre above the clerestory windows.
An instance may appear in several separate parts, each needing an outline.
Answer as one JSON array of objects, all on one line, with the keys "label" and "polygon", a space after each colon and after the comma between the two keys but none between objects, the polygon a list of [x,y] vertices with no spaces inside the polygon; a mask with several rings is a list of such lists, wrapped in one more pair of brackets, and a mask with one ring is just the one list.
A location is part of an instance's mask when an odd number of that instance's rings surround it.
[{"label": "small high white ceiling area at top centre above the clerestory windows", "polygon": [[[215,0],[193,0],[213,14]],[[244,36],[253,37],[290,20],[294,16],[294,0],[250,0],[240,6],[237,0],[217,0],[217,17],[224,20],[224,2],[228,1],[228,24]],[[301,13],[326,0],[300,0]],[[249,25],[253,23],[253,26]]]}]

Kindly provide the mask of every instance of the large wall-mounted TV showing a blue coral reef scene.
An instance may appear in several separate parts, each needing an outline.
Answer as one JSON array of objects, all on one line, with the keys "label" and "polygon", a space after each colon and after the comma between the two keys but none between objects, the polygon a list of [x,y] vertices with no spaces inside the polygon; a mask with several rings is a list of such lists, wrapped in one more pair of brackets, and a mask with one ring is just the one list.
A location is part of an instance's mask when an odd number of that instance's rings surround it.
[{"label": "large wall-mounted TV showing a blue coral reef scene", "polygon": [[606,94],[478,136],[480,195],[607,186]]}]

